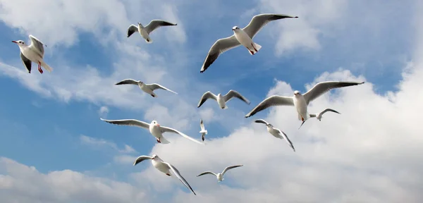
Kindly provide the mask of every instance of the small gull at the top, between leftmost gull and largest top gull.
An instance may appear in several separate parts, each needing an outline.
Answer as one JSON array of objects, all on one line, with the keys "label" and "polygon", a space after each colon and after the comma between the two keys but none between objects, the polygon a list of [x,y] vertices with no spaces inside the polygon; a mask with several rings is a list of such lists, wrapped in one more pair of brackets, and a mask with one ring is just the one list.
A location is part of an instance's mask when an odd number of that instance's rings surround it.
[{"label": "small gull at the top, between leftmost gull and largest top gull", "polygon": [[166,22],[164,20],[152,20],[145,27],[142,26],[141,23],[138,23],[138,26],[129,25],[127,37],[130,37],[130,35],[132,35],[134,32],[138,32],[138,33],[140,33],[141,37],[145,39],[145,42],[150,44],[150,43],[153,42],[153,40],[150,39],[150,37],[149,37],[149,34],[151,32],[153,32],[154,30],[156,30],[157,28],[159,28],[161,26],[175,26],[175,25],[178,25],[178,24],[169,23],[169,22]]}]

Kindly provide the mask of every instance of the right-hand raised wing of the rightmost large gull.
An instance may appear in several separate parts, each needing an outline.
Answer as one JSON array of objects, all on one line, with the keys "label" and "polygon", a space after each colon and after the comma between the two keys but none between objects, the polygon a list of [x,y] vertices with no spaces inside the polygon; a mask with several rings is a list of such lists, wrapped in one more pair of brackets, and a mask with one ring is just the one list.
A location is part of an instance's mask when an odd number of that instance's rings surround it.
[{"label": "right-hand raised wing of the rightmost large gull", "polygon": [[310,101],[313,101],[317,97],[320,97],[321,94],[328,92],[329,90],[339,88],[339,87],[348,87],[353,85],[361,85],[364,82],[341,82],[341,81],[326,81],[326,82],[319,82],[311,90],[304,94],[305,102],[307,105]]}]

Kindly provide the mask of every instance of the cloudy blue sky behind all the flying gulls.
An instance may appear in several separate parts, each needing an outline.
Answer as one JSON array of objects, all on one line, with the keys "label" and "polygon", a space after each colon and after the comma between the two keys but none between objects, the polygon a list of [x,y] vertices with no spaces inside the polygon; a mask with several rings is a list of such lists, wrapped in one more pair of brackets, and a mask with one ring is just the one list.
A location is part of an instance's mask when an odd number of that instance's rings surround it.
[{"label": "cloudy blue sky behind all the flying gulls", "polygon": [[[423,3],[421,1],[0,0],[0,196],[4,202],[422,202]],[[216,39],[259,13],[298,16],[271,22],[254,41],[219,56],[200,73]],[[177,26],[126,37],[130,24]],[[53,72],[27,73],[11,40],[47,44]],[[157,98],[126,78],[157,82]],[[244,118],[274,94],[292,96],[326,80],[365,82],[312,101],[321,121],[300,130],[295,109]],[[236,90],[228,109],[197,108],[204,92]],[[176,128],[158,144],[148,130],[111,125],[133,118]],[[285,132],[296,149],[254,123]],[[195,190],[140,155],[157,154]],[[217,183],[202,171],[226,173]]]}]

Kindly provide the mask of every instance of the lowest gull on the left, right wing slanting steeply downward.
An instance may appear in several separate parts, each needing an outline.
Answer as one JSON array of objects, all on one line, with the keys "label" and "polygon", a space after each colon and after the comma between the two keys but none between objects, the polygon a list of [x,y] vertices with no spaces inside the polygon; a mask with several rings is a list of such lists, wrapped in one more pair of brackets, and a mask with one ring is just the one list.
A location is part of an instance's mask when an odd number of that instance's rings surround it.
[{"label": "lowest gull on the left, right wing slanting steeply downward", "polygon": [[172,166],[171,164],[161,160],[160,157],[157,156],[157,154],[153,154],[152,156],[138,156],[137,159],[135,159],[134,161],[134,166],[146,159],[152,160],[152,165],[154,166],[154,168],[159,170],[161,173],[165,173],[167,176],[171,176],[171,171],[172,171],[176,175],[176,177],[178,177],[180,182],[182,182],[183,185],[185,185],[185,187],[190,189],[191,192],[194,193],[194,195],[197,195],[195,194],[194,190],[192,190],[192,187],[190,186],[190,184],[188,184],[187,180],[185,180],[185,178],[180,176],[178,169],[176,169],[175,166]]}]

